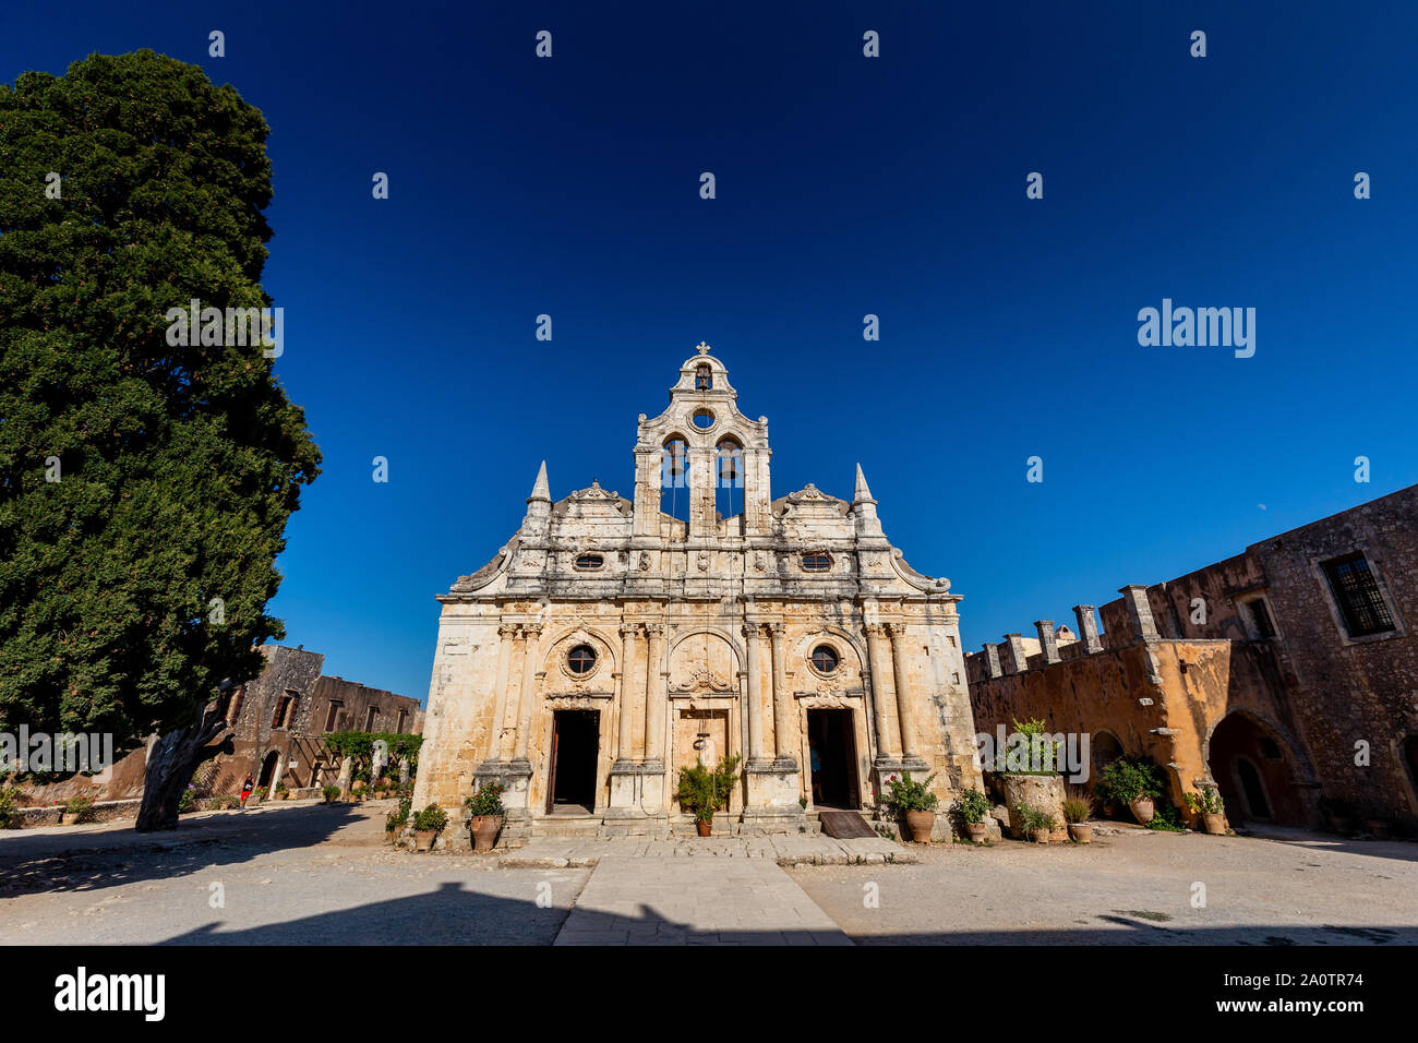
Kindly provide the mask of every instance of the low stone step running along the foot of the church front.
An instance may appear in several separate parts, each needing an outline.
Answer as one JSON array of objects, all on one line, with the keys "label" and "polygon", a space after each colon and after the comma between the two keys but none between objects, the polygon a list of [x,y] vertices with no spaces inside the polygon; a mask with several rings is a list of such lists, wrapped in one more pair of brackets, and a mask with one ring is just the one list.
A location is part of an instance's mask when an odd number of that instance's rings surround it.
[{"label": "low stone step running along the foot of the church front", "polygon": [[601,859],[760,860],[777,866],[872,866],[915,863],[909,847],[882,837],[835,840],[825,836],[760,837],[536,837],[498,859],[502,868],[586,868]]}]

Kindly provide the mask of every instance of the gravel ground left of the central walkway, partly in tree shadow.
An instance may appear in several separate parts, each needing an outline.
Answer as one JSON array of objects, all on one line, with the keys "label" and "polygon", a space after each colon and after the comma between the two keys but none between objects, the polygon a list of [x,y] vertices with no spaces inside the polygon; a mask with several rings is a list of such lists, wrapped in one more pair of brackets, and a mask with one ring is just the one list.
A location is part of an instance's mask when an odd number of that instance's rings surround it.
[{"label": "gravel ground left of the central walkway, partly in tree shadow", "polygon": [[3,833],[0,944],[550,945],[590,876],[394,851],[384,810],[272,805],[160,834]]}]

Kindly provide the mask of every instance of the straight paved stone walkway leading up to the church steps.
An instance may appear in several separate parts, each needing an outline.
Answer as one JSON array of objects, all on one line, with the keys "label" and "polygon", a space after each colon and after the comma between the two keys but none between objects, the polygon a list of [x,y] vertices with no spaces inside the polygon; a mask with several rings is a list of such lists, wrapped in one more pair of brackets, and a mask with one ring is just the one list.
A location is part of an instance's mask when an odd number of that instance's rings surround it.
[{"label": "straight paved stone walkway leading up to the church steps", "polygon": [[556,945],[851,945],[771,859],[603,854]]}]

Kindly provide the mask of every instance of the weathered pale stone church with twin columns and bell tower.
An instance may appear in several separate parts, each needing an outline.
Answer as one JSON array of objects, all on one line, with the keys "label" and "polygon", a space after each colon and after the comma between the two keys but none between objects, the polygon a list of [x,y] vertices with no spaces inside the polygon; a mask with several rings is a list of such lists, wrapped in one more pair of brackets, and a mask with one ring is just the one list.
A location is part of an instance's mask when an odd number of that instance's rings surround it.
[{"label": "weathered pale stone church with twin columns and bell tower", "polygon": [[902,771],[942,812],[980,786],[960,596],[891,545],[861,467],[851,501],[774,500],[767,419],[698,352],[640,417],[632,498],[553,501],[543,463],[520,528],[438,597],[415,807],[496,780],[505,840],[664,834],[678,769],[725,755],[716,833],[871,817]]}]

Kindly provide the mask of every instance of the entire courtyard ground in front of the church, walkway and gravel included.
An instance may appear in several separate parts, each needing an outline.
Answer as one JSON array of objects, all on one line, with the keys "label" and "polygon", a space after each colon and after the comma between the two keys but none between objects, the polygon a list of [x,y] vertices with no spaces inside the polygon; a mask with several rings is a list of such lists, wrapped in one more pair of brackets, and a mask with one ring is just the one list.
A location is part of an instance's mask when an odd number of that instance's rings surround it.
[{"label": "entire courtyard ground in front of the church, walkway and gravel included", "polygon": [[1089,846],[542,839],[414,856],[381,843],[383,810],[0,833],[0,944],[1418,944],[1404,841],[1100,826]]}]

